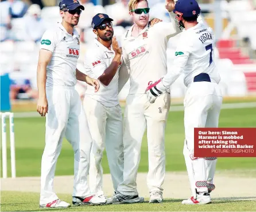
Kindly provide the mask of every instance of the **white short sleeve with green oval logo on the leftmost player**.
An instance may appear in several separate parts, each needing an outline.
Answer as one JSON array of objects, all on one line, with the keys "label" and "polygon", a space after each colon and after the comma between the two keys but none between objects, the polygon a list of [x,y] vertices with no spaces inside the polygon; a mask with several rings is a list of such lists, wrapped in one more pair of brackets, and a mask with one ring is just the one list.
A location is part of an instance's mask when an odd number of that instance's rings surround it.
[{"label": "white short sleeve with green oval logo on the leftmost player", "polygon": [[56,37],[57,35],[55,31],[46,30],[41,38],[40,49],[46,49],[53,52],[56,46]]}]

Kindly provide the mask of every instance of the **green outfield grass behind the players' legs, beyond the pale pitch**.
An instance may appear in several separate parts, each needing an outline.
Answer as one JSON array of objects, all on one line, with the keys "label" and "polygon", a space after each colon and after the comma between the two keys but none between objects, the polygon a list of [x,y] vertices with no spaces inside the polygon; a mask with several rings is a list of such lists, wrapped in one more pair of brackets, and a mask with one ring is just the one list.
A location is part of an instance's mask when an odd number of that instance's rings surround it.
[{"label": "green outfield grass behind the players' legs, beyond the pale pitch", "polygon": [[[219,127],[256,127],[256,109],[223,109]],[[166,171],[185,171],[183,158],[184,125],[183,111],[170,112],[166,126]],[[15,153],[17,177],[40,176],[41,155],[44,150],[45,118],[16,118]],[[7,130],[9,125],[7,125]],[[9,131],[7,131],[8,147]],[[148,151],[146,137],[143,137],[139,172],[148,171]],[[10,149],[7,149],[8,175],[10,176]],[[219,158],[218,170],[255,169],[256,158]],[[109,173],[106,153],[103,161],[104,173]],[[1,163],[2,166],[2,163]],[[73,174],[73,150],[64,140],[57,162],[56,175]],[[2,173],[1,173],[2,175]]]}]

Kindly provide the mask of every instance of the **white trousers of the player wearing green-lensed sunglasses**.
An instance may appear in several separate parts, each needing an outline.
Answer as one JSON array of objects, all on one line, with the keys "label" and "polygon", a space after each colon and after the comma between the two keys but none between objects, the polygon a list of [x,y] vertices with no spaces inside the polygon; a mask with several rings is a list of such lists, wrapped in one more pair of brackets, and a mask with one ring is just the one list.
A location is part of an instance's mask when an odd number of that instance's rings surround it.
[{"label": "white trousers of the player wearing green-lensed sunglasses", "polygon": [[170,94],[165,93],[150,104],[146,94],[129,94],[123,121],[125,166],[118,191],[138,195],[136,178],[141,159],[141,142],[147,128],[149,192],[161,191],[165,178],[165,125],[170,109]]}]

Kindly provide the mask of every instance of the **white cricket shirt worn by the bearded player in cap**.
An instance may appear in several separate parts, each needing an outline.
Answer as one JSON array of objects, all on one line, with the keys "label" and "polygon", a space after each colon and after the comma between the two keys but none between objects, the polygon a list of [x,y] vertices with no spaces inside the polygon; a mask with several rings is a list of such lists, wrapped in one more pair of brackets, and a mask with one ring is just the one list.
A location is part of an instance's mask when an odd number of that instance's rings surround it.
[{"label": "white cricket shirt worn by the bearded player in cap", "polygon": [[[112,46],[111,50],[109,50],[95,38],[95,42],[90,47],[88,47],[86,51],[86,57],[84,58],[85,74],[92,78],[98,79],[100,75],[102,75],[107,69],[107,67],[110,66],[114,57],[115,51],[113,50]],[[106,107],[117,106],[119,104],[118,77],[121,65],[122,58],[117,73],[115,73],[114,78],[111,80],[108,86],[103,85],[99,81],[99,91],[95,93],[94,87],[88,85],[86,94],[89,95],[92,99],[102,103],[102,105]]]}]

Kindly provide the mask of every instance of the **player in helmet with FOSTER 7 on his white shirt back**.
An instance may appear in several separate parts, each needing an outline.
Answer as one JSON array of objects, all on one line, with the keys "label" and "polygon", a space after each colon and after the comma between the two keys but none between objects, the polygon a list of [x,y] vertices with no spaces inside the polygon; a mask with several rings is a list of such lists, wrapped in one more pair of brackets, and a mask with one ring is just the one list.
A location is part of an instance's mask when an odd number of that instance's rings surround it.
[{"label": "player in helmet with FOSTER 7 on his white shirt back", "polygon": [[[156,83],[148,86],[146,94],[150,103],[168,91],[184,74],[187,93],[184,98],[184,158],[191,184],[192,197],[183,204],[196,205],[211,202],[217,158],[194,157],[194,127],[218,127],[222,93],[220,76],[214,62],[214,33],[204,23],[198,23],[200,7],[195,0],[179,0],[174,13],[177,24],[185,31],[176,49],[176,59],[170,71]],[[154,105],[154,104],[153,104]]]}]

